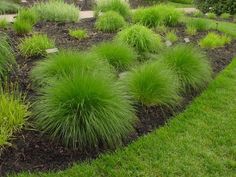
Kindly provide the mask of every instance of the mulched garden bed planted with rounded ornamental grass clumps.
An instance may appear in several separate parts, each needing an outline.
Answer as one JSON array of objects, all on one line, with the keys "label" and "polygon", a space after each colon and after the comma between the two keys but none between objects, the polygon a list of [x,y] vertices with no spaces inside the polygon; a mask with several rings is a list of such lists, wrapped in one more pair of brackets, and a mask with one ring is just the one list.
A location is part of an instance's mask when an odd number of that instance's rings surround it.
[{"label": "mulched garden bed planted with rounded ornamental grass clumps", "polygon": [[[30,112],[1,149],[1,175],[61,170],[130,144],[185,110],[236,55],[233,36],[201,19],[182,20],[169,6],[114,13],[100,7],[102,14],[79,22],[35,9],[39,19],[21,12],[12,28],[0,29],[16,59],[2,85],[17,85]],[[59,53],[45,52],[51,48]]]}]

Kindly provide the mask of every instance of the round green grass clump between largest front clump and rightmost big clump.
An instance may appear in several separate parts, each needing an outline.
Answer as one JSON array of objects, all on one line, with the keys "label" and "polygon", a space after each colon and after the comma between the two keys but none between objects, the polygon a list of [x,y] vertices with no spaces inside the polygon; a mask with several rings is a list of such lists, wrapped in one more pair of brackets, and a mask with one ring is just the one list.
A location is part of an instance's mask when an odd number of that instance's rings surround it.
[{"label": "round green grass clump between largest front clump and rightmost big clump", "polygon": [[175,73],[160,62],[145,63],[124,78],[128,93],[146,106],[174,105],[179,100]]}]

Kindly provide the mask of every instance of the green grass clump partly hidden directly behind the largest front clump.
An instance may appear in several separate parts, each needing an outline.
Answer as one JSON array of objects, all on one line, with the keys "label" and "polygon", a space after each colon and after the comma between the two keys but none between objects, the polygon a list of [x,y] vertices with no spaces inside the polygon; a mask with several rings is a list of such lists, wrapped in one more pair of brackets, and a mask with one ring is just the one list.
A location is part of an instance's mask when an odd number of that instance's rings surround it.
[{"label": "green grass clump partly hidden directly behind the largest front clump", "polygon": [[101,71],[109,75],[112,73],[107,62],[99,60],[96,55],[75,51],[62,51],[56,55],[49,55],[45,60],[36,63],[31,71],[31,78],[39,86],[59,80],[63,76],[71,76],[73,71]]}]

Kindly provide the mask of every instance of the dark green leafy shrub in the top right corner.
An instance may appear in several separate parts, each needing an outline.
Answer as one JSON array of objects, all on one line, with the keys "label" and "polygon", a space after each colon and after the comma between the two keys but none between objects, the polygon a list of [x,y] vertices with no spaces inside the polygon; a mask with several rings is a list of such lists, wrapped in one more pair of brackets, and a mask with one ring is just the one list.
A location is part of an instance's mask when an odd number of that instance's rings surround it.
[{"label": "dark green leafy shrub in the top right corner", "polygon": [[197,7],[204,13],[211,10],[212,12],[220,15],[222,13],[236,13],[235,0],[195,0]]}]

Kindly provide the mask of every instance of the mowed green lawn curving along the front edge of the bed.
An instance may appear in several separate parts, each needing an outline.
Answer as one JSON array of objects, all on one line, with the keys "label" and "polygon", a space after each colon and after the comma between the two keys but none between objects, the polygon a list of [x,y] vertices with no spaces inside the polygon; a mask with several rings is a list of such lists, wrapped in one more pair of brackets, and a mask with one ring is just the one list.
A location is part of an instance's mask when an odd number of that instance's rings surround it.
[{"label": "mowed green lawn curving along the front edge of the bed", "polygon": [[183,113],[128,147],[65,171],[18,176],[231,177],[235,170],[236,58]]}]

